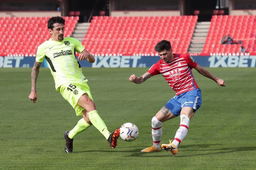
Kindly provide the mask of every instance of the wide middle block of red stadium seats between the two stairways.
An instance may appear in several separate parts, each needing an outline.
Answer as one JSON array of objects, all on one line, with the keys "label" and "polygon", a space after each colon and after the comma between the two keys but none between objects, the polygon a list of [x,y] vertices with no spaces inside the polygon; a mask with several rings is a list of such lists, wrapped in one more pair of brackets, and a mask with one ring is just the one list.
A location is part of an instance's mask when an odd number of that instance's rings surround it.
[{"label": "wide middle block of red stadium seats between the two stairways", "polygon": [[[98,51],[100,49],[90,49],[90,51],[92,53],[111,51],[111,53],[126,54],[132,52],[132,55],[143,51],[155,53],[156,43],[167,39],[171,43],[182,44],[179,51],[187,52],[196,21],[197,16],[92,17],[92,23],[84,37],[83,44],[91,41],[92,46],[96,46],[99,41],[111,42],[113,46],[110,50],[106,50],[108,47],[106,45],[102,51]],[[173,22],[179,24],[174,25]],[[189,29],[186,26],[189,26]],[[97,32],[97,36],[93,36],[96,30],[100,29],[102,30]]]}]

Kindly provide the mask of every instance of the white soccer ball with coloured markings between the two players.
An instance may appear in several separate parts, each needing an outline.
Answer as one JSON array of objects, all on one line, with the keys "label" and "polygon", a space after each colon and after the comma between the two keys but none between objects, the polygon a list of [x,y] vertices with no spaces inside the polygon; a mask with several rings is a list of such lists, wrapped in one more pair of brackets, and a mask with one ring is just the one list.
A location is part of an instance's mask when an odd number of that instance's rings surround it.
[{"label": "white soccer ball with coloured markings between the two players", "polygon": [[124,123],[120,127],[120,137],[126,142],[132,142],[139,136],[139,129],[133,123]]}]

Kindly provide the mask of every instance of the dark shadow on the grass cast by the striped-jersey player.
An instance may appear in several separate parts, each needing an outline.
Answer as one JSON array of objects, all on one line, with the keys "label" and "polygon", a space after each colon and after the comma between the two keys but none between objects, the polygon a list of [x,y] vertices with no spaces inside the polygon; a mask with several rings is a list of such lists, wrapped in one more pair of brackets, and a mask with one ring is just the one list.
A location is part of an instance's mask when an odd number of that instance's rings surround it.
[{"label": "dark shadow on the grass cast by the striped-jersey player", "polygon": [[[214,148],[209,148],[209,146],[211,145],[218,145],[218,147],[214,147]],[[193,144],[193,145],[185,145],[180,147],[181,150],[184,151],[191,151],[190,154],[187,155],[175,155],[175,157],[190,157],[190,156],[199,156],[199,155],[210,155],[210,154],[223,154],[223,153],[231,153],[231,152],[241,152],[241,151],[256,151],[256,146],[245,146],[245,147],[226,147],[226,148],[221,148],[221,144]],[[195,148],[196,147],[196,148]],[[189,149],[189,148],[193,148],[193,149]],[[195,153],[195,151],[197,153]],[[202,153],[198,153],[198,152],[202,152]],[[212,152],[207,152],[207,153],[203,153],[205,151],[212,151]],[[154,152],[154,153],[143,153],[143,152],[134,152],[129,156],[134,156],[134,157],[166,157],[167,155],[171,156],[170,152],[164,152],[167,154],[164,155],[159,155],[159,153],[163,154],[162,152]]]}]

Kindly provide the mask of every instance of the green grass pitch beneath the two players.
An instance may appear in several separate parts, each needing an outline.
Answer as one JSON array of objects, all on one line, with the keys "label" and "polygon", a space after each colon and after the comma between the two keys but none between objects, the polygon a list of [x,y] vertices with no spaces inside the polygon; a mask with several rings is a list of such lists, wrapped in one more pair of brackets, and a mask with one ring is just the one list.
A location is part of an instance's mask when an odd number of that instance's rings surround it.
[{"label": "green grass pitch beneath the two players", "polygon": [[[38,99],[28,99],[31,68],[1,68],[0,169],[255,169],[256,68],[208,68],[226,87],[193,70],[203,103],[191,119],[179,153],[141,153],[152,145],[151,119],[175,94],[161,75],[137,85],[129,81],[148,68],[83,68],[101,118],[112,131],[125,122],[139,128],[134,142],[118,139],[115,149],[95,128],[74,139],[65,153],[63,133],[81,116],[55,91],[48,68],[37,79]],[[168,143],[180,118],[164,122]]]}]

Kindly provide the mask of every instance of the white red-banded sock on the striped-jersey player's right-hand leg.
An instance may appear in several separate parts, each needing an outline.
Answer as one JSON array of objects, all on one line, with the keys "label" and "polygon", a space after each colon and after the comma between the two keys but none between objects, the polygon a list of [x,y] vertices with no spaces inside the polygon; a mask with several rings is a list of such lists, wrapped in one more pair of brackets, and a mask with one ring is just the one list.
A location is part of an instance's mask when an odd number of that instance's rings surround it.
[{"label": "white red-banded sock on the striped-jersey player's right-hand leg", "polygon": [[177,130],[172,143],[178,147],[180,142],[186,137],[188,133],[189,118],[186,115],[180,115],[180,128]]}]

